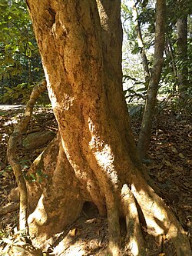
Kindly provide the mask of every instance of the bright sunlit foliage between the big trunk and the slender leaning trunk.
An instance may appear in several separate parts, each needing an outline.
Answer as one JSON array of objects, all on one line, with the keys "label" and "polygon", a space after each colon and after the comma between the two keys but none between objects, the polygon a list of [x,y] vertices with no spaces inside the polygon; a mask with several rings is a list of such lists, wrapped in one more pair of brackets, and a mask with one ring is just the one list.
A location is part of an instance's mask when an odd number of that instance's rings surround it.
[{"label": "bright sunlit foliage between the big trunk and the slender leaning trunk", "polygon": [[[124,95],[127,99],[127,103],[133,101],[144,102],[147,94],[147,85],[145,84],[144,68],[141,63],[142,49],[137,41],[136,23],[134,21],[136,17],[129,2],[124,0],[121,6],[124,28]],[[155,14],[153,5],[150,5],[148,2],[144,4],[137,2],[137,15],[137,22],[141,27],[144,48],[150,68],[152,64],[151,48],[153,48],[154,45]]]}]

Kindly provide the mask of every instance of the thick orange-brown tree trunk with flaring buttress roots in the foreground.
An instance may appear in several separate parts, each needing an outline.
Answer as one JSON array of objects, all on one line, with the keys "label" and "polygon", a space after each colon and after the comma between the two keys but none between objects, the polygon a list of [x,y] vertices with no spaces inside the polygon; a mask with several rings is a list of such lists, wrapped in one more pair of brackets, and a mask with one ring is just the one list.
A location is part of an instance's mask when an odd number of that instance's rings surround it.
[{"label": "thick orange-brown tree trunk with flaring buttress roots in the foreground", "polygon": [[132,254],[145,255],[139,204],[154,233],[190,255],[180,224],[141,172],[122,89],[120,1],[27,2],[59,129],[30,170],[42,174],[41,183],[28,182],[33,241],[46,247],[92,201],[108,215],[111,254],[119,255],[123,215]]}]

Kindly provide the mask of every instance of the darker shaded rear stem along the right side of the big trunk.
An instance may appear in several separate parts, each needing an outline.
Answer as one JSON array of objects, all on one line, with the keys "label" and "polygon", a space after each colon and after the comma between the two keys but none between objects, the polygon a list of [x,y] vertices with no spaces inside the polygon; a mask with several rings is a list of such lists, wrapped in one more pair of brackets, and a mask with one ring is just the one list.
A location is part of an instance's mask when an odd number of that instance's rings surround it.
[{"label": "darker shaded rear stem along the right side of the big trunk", "polygon": [[[98,12],[101,20],[102,54],[104,58],[104,79],[108,103],[121,135],[121,141],[127,149],[134,165],[144,174],[150,185],[154,184],[147,171],[141,165],[134,136],[131,131],[131,122],[127,104],[124,101],[122,87],[122,28],[121,5],[119,1],[97,0]],[[118,40],[117,40],[118,38]],[[114,61],[115,60],[115,61]]]}]

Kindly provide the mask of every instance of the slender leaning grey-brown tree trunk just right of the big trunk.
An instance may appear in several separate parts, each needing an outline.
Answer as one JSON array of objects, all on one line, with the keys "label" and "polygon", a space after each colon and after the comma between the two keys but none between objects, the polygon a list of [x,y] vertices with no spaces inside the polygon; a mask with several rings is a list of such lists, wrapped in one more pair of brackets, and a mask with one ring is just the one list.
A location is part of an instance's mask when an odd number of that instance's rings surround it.
[{"label": "slender leaning grey-brown tree trunk just right of the big trunk", "polygon": [[154,64],[151,71],[151,78],[147,90],[147,99],[145,102],[144,115],[141,123],[137,149],[142,161],[147,158],[147,151],[151,139],[152,120],[158,85],[161,78],[161,70],[164,63],[164,26],[165,26],[165,0],[157,0],[156,6],[156,25],[155,25],[155,43],[154,43]]}]

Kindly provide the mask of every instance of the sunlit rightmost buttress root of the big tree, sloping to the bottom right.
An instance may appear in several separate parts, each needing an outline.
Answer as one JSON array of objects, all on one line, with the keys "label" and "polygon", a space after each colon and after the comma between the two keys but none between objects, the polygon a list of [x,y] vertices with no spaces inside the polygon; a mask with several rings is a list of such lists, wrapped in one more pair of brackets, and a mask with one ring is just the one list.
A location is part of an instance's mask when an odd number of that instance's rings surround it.
[{"label": "sunlit rightmost buttress root of the big tree, sloping to the bottom right", "polygon": [[177,251],[177,256],[190,256],[191,248],[187,234],[164,201],[145,184],[141,177],[134,179],[131,191],[144,214],[149,230],[154,236],[165,234]]}]

